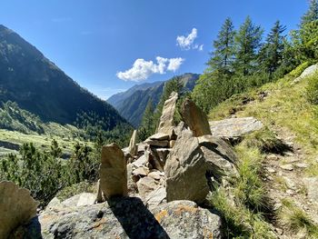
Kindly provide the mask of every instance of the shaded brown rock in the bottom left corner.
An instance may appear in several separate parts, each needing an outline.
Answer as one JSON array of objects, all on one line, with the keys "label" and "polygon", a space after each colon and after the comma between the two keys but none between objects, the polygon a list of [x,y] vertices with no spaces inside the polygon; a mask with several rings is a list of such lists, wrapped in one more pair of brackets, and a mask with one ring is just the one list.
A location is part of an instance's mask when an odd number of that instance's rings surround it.
[{"label": "shaded brown rock in the bottom left corner", "polygon": [[30,191],[12,182],[0,183],[0,238],[9,238],[17,226],[28,223],[38,206]]}]

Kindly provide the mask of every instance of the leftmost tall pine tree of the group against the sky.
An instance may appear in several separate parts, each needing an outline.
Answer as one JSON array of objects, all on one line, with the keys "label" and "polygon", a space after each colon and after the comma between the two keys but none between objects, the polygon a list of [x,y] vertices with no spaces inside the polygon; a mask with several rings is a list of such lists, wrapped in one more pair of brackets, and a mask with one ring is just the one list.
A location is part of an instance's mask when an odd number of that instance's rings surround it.
[{"label": "leftmost tall pine tree of the group against the sky", "polygon": [[214,52],[207,63],[212,71],[218,71],[224,75],[233,71],[234,60],[234,25],[231,18],[226,18],[217,39],[214,40]]}]

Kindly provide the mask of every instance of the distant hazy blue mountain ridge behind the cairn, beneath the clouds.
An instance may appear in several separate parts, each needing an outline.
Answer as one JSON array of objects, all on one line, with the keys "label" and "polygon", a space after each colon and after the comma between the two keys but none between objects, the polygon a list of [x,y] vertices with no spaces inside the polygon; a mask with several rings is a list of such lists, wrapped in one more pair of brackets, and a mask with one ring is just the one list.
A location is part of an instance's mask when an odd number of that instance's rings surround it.
[{"label": "distant hazy blue mountain ridge behind the cairn, beneath the clouds", "polygon": [[[184,91],[192,91],[200,75],[187,73],[180,76]],[[113,105],[128,122],[138,126],[141,123],[148,101],[151,100],[154,106],[159,103],[163,94],[164,83],[154,82],[134,85],[123,93],[111,96],[107,102]]]}]

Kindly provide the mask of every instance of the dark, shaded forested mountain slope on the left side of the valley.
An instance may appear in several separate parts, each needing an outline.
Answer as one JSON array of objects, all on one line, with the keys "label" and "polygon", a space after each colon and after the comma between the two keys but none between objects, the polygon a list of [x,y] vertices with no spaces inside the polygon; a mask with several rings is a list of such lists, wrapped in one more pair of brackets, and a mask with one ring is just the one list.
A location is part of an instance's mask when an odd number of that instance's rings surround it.
[{"label": "dark, shaded forested mountain slope on the left side of the valley", "polygon": [[103,119],[106,129],[126,123],[112,105],[65,75],[14,31],[0,25],[0,102],[12,101],[45,122],[73,124],[78,114]]}]

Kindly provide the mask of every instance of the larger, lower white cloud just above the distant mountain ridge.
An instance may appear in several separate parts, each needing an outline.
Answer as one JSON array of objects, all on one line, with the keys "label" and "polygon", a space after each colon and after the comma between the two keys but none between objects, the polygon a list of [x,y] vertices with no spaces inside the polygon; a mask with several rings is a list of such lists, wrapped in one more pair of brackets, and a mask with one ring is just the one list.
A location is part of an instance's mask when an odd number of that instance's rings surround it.
[{"label": "larger, lower white cloud just above the distant mountain ridge", "polygon": [[168,59],[157,56],[155,59],[156,63],[145,61],[144,59],[136,59],[132,68],[124,72],[118,72],[116,75],[124,81],[139,82],[153,74],[164,75],[167,71],[175,72],[184,62],[184,59],[181,57]]}]

